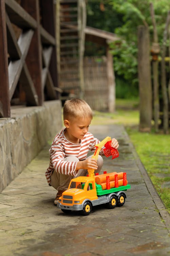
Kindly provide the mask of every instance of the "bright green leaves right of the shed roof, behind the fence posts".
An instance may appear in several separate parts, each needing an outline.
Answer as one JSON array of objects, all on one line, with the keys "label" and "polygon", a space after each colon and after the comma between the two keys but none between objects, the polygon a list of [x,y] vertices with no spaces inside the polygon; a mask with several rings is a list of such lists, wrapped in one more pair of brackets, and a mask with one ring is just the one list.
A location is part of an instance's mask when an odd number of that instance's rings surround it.
[{"label": "bright green leaves right of the shed roof, behind the fence posts", "polygon": [[[159,42],[162,41],[166,16],[170,9],[168,0],[151,1],[155,10]],[[115,29],[115,33],[122,37],[122,42],[112,43],[114,68],[116,74],[130,85],[137,88],[137,27],[147,25],[152,38],[152,20],[150,14],[150,1],[148,0],[111,0],[113,11],[122,15],[123,25]],[[131,86],[130,86],[131,87]],[[131,88],[130,88],[131,90]]]}]

